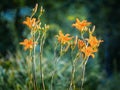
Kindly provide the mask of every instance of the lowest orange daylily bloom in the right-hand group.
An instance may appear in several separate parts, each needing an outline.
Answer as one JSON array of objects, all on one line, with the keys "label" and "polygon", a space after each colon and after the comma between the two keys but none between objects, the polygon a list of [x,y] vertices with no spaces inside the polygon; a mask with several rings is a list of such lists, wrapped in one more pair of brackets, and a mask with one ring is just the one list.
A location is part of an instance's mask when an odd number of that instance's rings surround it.
[{"label": "lowest orange daylily bloom in the right-hand group", "polygon": [[94,53],[97,52],[97,50],[93,49],[90,46],[84,47],[81,51],[85,54],[85,57],[92,56],[93,58],[94,58]]}]

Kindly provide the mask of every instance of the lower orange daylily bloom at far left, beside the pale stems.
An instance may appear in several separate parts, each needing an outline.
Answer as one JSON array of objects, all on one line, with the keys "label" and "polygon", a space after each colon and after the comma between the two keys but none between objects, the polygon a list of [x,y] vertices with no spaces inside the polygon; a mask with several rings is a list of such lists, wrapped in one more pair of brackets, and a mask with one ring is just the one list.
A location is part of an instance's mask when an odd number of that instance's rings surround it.
[{"label": "lower orange daylily bloom at far left, beside the pale stems", "polygon": [[24,46],[24,50],[27,50],[33,48],[34,42],[32,39],[25,39],[23,42],[20,42],[20,44]]}]

